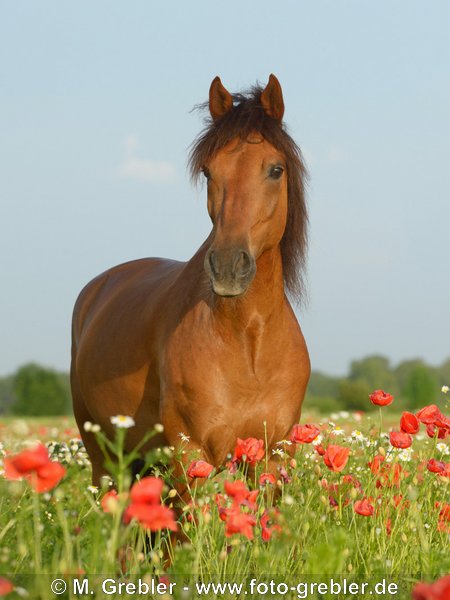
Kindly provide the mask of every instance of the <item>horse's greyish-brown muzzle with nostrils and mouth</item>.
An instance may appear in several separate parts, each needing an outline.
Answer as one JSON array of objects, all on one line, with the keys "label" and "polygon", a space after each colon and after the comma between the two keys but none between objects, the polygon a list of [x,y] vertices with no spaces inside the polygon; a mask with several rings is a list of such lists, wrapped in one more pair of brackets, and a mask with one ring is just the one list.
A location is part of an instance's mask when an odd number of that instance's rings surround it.
[{"label": "horse's greyish-brown muzzle with nostrils and mouth", "polygon": [[242,248],[210,248],[204,265],[213,291],[218,296],[232,297],[245,293],[256,273],[254,257]]}]

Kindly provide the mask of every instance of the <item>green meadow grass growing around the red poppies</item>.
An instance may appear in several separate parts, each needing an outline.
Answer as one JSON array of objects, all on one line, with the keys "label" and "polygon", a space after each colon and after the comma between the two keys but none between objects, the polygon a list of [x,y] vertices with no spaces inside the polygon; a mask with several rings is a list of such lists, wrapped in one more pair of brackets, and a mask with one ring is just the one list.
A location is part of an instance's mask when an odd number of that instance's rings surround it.
[{"label": "green meadow grass growing around the red poppies", "polygon": [[[344,578],[371,586],[387,579],[398,584],[400,591],[379,597],[410,598],[415,582],[433,581],[450,572],[450,521],[439,518],[440,508],[436,506],[450,502],[450,478],[426,469],[430,458],[450,461],[446,454],[449,445],[437,446],[437,440],[428,438],[422,426],[412,451],[400,452],[392,449],[385,436],[380,437],[378,414],[364,416],[360,421],[351,414],[337,416],[335,424],[344,434],[323,417],[320,428],[324,447],[331,442],[350,448],[342,473],[330,471],[311,444],[298,446],[296,466],[290,457],[280,457],[280,465],[291,481],[277,484],[275,500],[272,491],[260,489],[255,509],[241,507],[242,512],[255,518],[252,540],[241,534],[225,535],[225,523],[215,501],[217,494],[224,494],[226,479],[245,479],[245,468],[234,475],[227,471],[213,473],[204,485],[192,487],[195,508],[185,507],[179,522],[184,539],[175,546],[166,532],[158,533],[150,542],[138,523],[125,525],[125,498],[113,514],[103,511],[102,491],[89,489],[90,468],[83,448],[70,441],[76,435],[73,421],[4,420],[0,429],[4,452],[14,454],[25,440],[53,440],[53,456],[67,468],[62,482],[44,494],[33,492],[25,481],[0,478],[0,575],[19,588],[19,593],[12,592],[11,597],[23,595],[23,590],[31,599],[56,597],[50,591],[52,580],[60,577],[70,583],[75,576],[80,580],[89,578],[94,592],[90,597],[124,598],[136,594],[127,594],[126,590],[106,593],[114,589],[112,584],[103,592],[101,581],[105,576],[136,584],[153,579],[156,585],[162,575],[168,575],[176,583],[173,597],[180,599],[364,597],[348,592],[321,594],[317,586],[306,596],[300,585],[326,583],[330,579],[342,583]],[[302,418],[302,422],[319,421],[318,415]],[[390,415],[383,423],[384,430],[395,424],[398,417]],[[355,430],[361,436],[355,433],[352,437]],[[368,467],[380,447],[391,461],[391,470],[393,465],[402,467],[397,484],[374,475]],[[263,465],[258,467],[256,477],[247,481],[250,489],[259,489],[258,476],[262,471]],[[344,476],[349,474],[359,485],[344,482]],[[383,485],[377,486],[380,479]],[[121,485],[125,489],[127,482]],[[354,511],[355,501],[363,497],[371,498],[372,516]],[[165,487],[163,499],[166,505],[176,502],[170,486]],[[223,504],[228,506],[230,500],[225,498]],[[261,539],[260,522],[266,509],[278,529],[267,542]],[[168,553],[173,556],[170,567],[165,565]],[[250,587],[252,578],[259,582],[258,589],[255,583]],[[269,586],[271,580],[273,586],[281,584],[279,593],[271,595],[268,589],[264,595],[264,585]],[[241,593],[210,590],[197,595],[195,583],[208,581],[245,582],[246,587]],[[280,593],[285,590],[283,584],[295,589]],[[189,587],[189,592],[183,590],[184,586]],[[69,585],[69,590],[59,597],[79,595]],[[164,596],[149,593],[138,597]]]}]

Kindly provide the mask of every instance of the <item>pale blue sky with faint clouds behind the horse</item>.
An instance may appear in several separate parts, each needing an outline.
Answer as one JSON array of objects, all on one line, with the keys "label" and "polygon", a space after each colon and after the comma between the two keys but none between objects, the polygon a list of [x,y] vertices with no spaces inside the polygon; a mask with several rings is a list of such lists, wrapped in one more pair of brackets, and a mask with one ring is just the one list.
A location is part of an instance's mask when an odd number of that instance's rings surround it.
[{"label": "pale blue sky with faint clouds behind the horse", "polygon": [[310,179],[312,367],[450,357],[450,3],[0,5],[0,375],[68,370],[81,288],[207,237],[192,107],[270,73]]}]

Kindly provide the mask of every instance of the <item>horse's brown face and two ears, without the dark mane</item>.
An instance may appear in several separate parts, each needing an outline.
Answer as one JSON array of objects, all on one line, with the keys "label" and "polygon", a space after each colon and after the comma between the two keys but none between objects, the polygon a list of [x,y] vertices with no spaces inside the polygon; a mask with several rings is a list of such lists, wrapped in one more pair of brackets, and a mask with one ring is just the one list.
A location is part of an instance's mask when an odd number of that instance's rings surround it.
[{"label": "horse's brown face and two ears, without the dark mane", "polygon": [[[233,110],[233,98],[216,77],[209,109],[220,127]],[[260,111],[281,122],[283,96],[271,75],[260,96]],[[213,222],[212,244],[205,269],[219,296],[239,296],[251,284],[256,260],[278,245],[287,217],[286,159],[258,131],[235,137],[203,165],[208,182],[208,212]]]}]

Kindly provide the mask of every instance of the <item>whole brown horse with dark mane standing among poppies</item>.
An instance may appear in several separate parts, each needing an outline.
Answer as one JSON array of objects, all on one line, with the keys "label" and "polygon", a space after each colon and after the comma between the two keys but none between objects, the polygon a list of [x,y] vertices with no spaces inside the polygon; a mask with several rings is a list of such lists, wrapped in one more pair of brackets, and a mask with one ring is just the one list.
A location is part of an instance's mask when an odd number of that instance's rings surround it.
[{"label": "whole brown horse with dark mane standing among poppies", "polygon": [[73,404],[94,483],[104,459],[88,420],[111,436],[112,415],[132,416],[129,448],[162,423],[152,446],[179,447],[182,432],[186,455],[219,466],[237,437],[265,439],[270,454],[300,417],[310,363],[286,291],[301,293],[305,169],[280,84],[232,96],[216,77],[209,111],[190,156],[207,180],[208,239],[186,263],[114,267],[75,305]]}]

